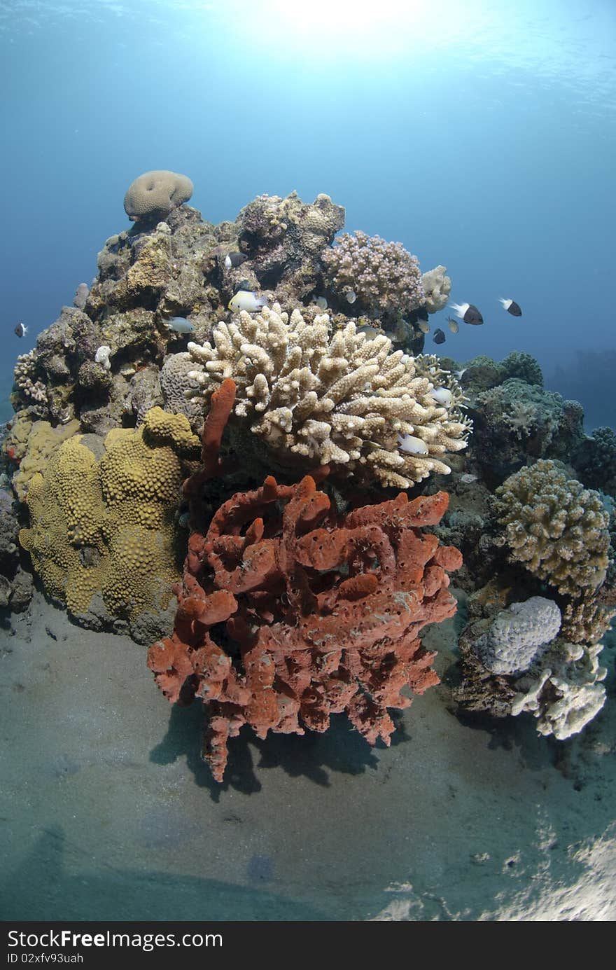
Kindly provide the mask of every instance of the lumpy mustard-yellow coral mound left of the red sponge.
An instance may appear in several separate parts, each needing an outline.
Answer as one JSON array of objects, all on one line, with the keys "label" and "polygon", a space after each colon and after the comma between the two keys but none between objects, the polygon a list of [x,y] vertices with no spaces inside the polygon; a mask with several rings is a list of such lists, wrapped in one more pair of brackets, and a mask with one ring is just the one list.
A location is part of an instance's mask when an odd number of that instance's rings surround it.
[{"label": "lumpy mustard-yellow coral mound left of the red sponge", "polygon": [[81,615],[100,594],[129,621],[168,605],[181,456],[195,442],[186,418],[153,408],[137,431],[114,429],[104,445],[73,436],[56,450],[31,479],[30,528],[19,533],[50,596]]}]

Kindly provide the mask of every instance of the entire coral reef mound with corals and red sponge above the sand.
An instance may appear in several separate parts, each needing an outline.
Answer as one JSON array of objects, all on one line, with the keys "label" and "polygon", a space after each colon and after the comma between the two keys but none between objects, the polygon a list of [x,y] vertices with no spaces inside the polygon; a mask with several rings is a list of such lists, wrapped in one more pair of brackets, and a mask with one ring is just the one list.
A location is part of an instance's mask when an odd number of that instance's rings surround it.
[{"label": "entire coral reef mound with corals and red sponge above the sand", "polygon": [[[529,710],[556,737],[578,729],[602,702],[600,641],[616,606],[613,502],[584,486],[616,495],[614,432],[586,436],[581,406],[544,390],[527,353],[466,365],[422,354],[421,321],[450,295],[445,268],[421,275],[400,243],[363,233],[334,242],[344,210],[329,196],[262,195],[213,225],[184,204],[188,179],[178,194],[166,174],[157,195],[151,175],[129,189],[135,224],[107,240],[91,286],[17,359],[0,605],[23,608],[34,565],[81,624],[166,637],[157,679],[206,702],[220,775],[242,723],[324,729],[346,708],[369,739],[387,734],[405,678],[433,677],[414,627],[439,597],[453,608],[444,579],[427,592],[439,557],[456,558],[439,540],[465,557],[461,707]],[[240,289],[270,308],[235,315]],[[187,322],[170,328],[175,317]],[[446,504],[442,473],[448,507],[424,521]],[[266,475],[281,484],[268,477],[264,493]],[[383,502],[383,487],[413,501]],[[404,511],[415,501],[428,504]],[[417,518],[396,532],[403,513]],[[312,534],[331,566],[309,559]],[[427,557],[404,575],[403,538]],[[244,580],[255,585],[238,590]],[[317,628],[340,628],[340,646],[321,650]]]}]

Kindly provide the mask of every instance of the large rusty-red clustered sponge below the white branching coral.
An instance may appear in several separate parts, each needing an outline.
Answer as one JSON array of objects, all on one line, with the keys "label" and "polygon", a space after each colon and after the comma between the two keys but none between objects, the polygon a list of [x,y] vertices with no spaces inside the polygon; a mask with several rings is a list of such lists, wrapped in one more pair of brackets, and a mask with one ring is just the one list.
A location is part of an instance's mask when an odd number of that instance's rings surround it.
[{"label": "large rusty-red clustered sponge below the white branching coral", "polygon": [[421,533],[446,505],[443,492],[401,493],[340,519],[309,476],[269,477],[191,534],[174,633],[147,663],[172,702],[203,700],[217,781],[244,724],[259,737],[303,734],[346,711],[371,744],[389,744],[387,708],[438,683],[418,634],[455,612],[446,570],[461,556]]}]

